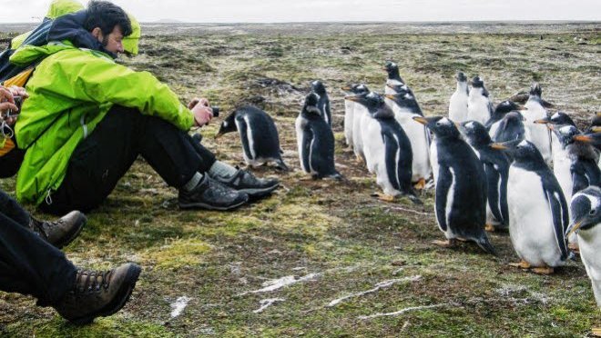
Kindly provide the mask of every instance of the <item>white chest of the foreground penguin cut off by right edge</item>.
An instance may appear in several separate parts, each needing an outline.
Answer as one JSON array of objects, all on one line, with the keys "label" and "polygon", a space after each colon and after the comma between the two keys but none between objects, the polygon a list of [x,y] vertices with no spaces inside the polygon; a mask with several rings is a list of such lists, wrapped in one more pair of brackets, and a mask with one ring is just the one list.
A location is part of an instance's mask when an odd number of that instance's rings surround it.
[{"label": "white chest of the foreground penguin cut off by right edge", "polygon": [[581,230],[578,233],[578,246],[586,274],[593,283],[596,304],[601,307],[601,225]]}]

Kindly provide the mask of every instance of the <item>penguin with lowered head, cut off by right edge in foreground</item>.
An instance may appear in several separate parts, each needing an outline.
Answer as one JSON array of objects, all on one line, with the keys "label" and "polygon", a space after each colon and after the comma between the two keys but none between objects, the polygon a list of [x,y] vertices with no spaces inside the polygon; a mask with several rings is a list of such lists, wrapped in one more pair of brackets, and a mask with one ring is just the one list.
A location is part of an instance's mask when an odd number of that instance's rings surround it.
[{"label": "penguin with lowered head, cut off by right edge in foreground", "polygon": [[589,186],[574,195],[567,234],[576,233],[580,257],[593,283],[596,305],[601,307],[601,189]]}]

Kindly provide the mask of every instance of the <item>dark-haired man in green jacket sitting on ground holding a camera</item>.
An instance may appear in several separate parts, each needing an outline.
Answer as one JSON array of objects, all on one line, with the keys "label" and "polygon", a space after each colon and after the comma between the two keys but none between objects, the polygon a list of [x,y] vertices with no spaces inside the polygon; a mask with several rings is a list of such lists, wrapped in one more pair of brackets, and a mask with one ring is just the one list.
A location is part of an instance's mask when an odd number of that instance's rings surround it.
[{"label": "dark-haired man in green jacket sitting on ground holding a camera", "polygon": [[207,100],[187,107],[155,76],[115,63],[131,32],[120,7],[91,1],[87,10],[56,19],[48,45],[25,45],[11,56],[20,65],[43,58],[15,124],[26,149],[17,198],[53,214],[88,211],[138,154],[178,188],[181,208],[229,210],[276,189],[277,180],[221,163],[189,136],[190,127],[212,118]]}]

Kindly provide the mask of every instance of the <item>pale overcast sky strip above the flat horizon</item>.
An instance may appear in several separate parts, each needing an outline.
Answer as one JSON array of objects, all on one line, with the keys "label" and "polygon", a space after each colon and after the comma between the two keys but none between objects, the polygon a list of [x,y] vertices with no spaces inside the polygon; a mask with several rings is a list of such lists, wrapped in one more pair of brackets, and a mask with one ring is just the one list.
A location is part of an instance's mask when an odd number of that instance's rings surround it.
[{"label": "pale overcast sky strip above the flat horizon", "polygon": [[[86,4],[86,0],[80,0]],[[113,0],[142,22],[601,21],[601,0]],[[0,23],[37,22],[50,0],[0,0]]]}]

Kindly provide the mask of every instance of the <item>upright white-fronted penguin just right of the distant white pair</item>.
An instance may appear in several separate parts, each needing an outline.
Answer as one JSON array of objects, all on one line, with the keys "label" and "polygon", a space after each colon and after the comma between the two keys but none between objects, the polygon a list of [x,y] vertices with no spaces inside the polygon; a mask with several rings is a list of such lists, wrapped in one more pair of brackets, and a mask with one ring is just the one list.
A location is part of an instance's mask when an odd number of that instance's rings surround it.
[{"label": "upright white-fronted penguin just right of the distant white pair", "polygon": [[541,152],[546,164],[551,164],[553,161],[551,154],[551,134],[549,130],[545,128],[545,125],[535,124],[536,120],[544,119],[546,109],[541,103],[541,86],[538,84],[532,84],[530,89],[530,97],[525,103],[524,117],[525,117],[525,128],[528,131],[526,139],[536,145],[536,148]]}]

